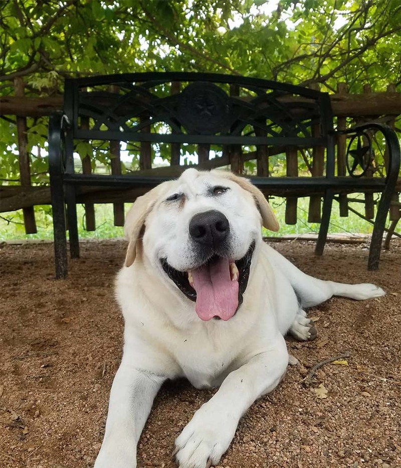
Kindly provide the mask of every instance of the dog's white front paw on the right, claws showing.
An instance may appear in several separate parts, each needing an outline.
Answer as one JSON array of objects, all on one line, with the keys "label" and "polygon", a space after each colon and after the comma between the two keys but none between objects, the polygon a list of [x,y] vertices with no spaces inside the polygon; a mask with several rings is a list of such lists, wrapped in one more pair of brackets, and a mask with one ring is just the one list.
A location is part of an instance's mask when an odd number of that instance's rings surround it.
[{"label": "dog's white front paw on the right, claws showing", "polygon": [[209,468],[218,464],[232,441],[237,422],[229,415],[214,412],[207,404],[194,414],[175,440],[179,468]]}]

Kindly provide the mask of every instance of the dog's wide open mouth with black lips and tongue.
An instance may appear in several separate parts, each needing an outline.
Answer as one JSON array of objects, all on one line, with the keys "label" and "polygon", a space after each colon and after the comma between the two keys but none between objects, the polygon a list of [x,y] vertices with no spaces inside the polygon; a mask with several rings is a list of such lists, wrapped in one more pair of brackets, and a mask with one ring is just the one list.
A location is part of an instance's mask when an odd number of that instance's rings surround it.
[{"label": "dog's wide open mouth with black lips and tongue", "polygon": [[199,318],[229,320],[243,302],[254,249],[255,241],[240,260],[232,262],[214,255],[205,264],[190,271],[175,270],[166,259],[161,259],[161,265],[178,289],[196,302],[195,310]]}]

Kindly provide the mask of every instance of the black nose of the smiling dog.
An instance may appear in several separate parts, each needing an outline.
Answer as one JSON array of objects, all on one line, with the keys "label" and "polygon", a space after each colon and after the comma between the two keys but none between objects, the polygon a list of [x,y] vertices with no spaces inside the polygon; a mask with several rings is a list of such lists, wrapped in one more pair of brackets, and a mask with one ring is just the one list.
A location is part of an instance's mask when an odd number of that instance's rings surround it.
[{"label": "black nose of the smiling dog", "polygon": [[199,244],[210,247],[218,247],[222,244],[229,232],[229,220],[217,210],[195,214],[189,223],[191,238]]}]

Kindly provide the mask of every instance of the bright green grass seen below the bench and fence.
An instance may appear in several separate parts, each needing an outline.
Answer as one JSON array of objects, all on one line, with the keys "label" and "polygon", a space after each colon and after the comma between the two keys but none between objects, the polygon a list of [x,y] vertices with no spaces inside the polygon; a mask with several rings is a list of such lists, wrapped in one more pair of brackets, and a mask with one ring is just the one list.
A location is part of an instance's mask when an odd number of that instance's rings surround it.
[{"label": "bright green grass seen below the bench and fence", "polygon": [[[353,195],[355,197],[355,195]],[[285,200],[274,198],[270,201],[274,212],[280,223],[279,232],[265,230],[267,236],[287,236],[293,234],[318,233],[319,223],[308,222],[308,198],[298,200],[298,221],[294,225],[287,225],[285,218]],[[126,210],[130,204],[126,203]],[[354,209],[363,213],[363,204],[351,203]],[[124,236],[124,229],[113,225],[113,207],[111,204],[96,205],[96,231],[88,232],[84,228],[85,211],[82,205],[78,205],[78,230],[81,239],[113,239]],[[21,240],[21,239],[41,239],[53,240],[53,225],[49,207],[35,207],[36,223],[38,233],[25,234],[22,210],[4,214],[0,218],[0,241]],[[349,212],[348,217],[340,217],[338,204],[333,203],[329,233],[370,234],[373,225],[361,219],[356,214]]]}]

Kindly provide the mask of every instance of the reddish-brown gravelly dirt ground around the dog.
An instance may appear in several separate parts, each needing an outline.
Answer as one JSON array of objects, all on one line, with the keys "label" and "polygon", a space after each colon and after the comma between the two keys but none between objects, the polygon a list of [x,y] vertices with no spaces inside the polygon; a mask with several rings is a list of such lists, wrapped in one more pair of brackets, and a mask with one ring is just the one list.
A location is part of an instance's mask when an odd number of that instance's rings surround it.
[{"label": "reddish-brown gravelly dirt ground around the dog", "polygon": [[[401,467],[401,243],[382,253],[377,272],[366,270],[363,244],[329,244],[320,258],[314,243],[274,247],[309,274],[373,282],[387,295],[333,298],[309,311],[318,338],[288,340],[301,364],[252,405],[219,466]],[[2,245],[0,466],[93,465],[121,358],[113,281],[124,248],[121,241],[85,242],[69,278],[56,281],[51,244]],[[348,365],[324,365],[305,387],[315,364],[344,352]],[[138,467],[175,466],[175,437],[214,392],[186,381],[164,385],[139,442]]]}]

